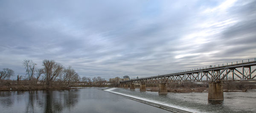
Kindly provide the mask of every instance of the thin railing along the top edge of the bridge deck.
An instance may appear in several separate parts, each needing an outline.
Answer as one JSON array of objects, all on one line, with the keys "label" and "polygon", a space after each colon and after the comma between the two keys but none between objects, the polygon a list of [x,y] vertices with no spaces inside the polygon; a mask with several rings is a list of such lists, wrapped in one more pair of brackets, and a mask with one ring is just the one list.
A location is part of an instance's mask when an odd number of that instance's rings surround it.
[{"label": "thin railing along the top edge of the bridge deck", "polygon": [[151,77],[157,77],[157,76],[169,75],[169,74],[177,74],[177,73],[183,73],[183,72],[192,72],[192,71],[198,71],[198,70],[204,70],[204,69],[213,69],[213,68],[218,68],[218,67],[233,66],[233,65],[237,65],[237,64],[244,64],[244,63],[251,63],[251,62],[256,62],[256,58],[250,58],[250,59],[245,59],[245,60],[240,60],[240,61],[232,61],[232,62],[227,62],[227,63],[220,63],[220,64],[215,64],[215,65],[204,66],[204,67],[199,67],[199,68],[194,68],[194,69],[186,69],[186,70],[170,72],[170,73],[165,73],[165,74],[158,74],[158,75],[154,75]]}]

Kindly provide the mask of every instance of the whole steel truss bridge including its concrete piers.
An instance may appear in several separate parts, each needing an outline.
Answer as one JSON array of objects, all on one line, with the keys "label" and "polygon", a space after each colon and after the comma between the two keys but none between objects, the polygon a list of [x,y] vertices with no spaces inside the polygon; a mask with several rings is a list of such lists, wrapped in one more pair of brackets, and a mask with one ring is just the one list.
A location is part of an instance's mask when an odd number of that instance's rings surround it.
[{"label": "whole steel truss bridge including its concrete piers", "polygon": [[166,84],[201,82],[209,83],[208,101],[224,100],[224,81],[256,80],[256,58],[187,69],[179,72],[160,74],[151,77],[121,81],[124,88],[140,84],[140,91],[146,91],[146,84],[159,84],[159,94],[167,94]]}]

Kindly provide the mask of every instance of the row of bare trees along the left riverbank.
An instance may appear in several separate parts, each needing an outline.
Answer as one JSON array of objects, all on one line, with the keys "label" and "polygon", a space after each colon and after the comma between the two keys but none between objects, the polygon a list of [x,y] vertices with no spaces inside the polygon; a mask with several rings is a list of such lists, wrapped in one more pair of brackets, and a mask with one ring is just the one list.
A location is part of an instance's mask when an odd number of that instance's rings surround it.
[{"label": "row of bare trees along the left riverbank", "polygon": [[[79,74],[71,66],[65,68],[61,63],[54,60],[42,61],[43,68],[37,68],[37,63],[32,60],[24,60],[23,66],[26,70],[26,76],[17,75],[17,84],[28,81],[30,84],[41,84],[50,88],[52,86],[70,87],[72,84],[99,84],[105,81],[102,77],[79,77]],[[0,81],[9,80],[14,76],[14,71],[4,68],[0,71]],[[24,78],[23,78],[24,77]],[[28,83],[26,82],[26,83]],[[23,82],[24,83],[24,82]]]}]

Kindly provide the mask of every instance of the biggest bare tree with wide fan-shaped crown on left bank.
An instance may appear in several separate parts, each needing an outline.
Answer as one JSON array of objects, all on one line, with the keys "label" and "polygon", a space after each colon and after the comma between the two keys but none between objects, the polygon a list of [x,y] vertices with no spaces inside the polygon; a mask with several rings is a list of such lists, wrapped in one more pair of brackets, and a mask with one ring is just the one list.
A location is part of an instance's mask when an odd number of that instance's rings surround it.
[{"label": "biggest bare tree with wide fan-shaped crown on left bank", "polygon": [[47,81],[47,86],[51,86],[52,81],[55,81],[56,77],[60,76],[64,67],[60,63],[56,63],[54,60],[44,60],[44,73]]}]

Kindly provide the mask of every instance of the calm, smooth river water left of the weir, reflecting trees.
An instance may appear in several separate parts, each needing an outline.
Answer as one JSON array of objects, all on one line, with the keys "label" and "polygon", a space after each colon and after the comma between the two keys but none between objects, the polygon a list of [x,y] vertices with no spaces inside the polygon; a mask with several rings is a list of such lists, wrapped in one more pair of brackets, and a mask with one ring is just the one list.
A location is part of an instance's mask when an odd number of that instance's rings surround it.
[{"label": "calm, smooth river water left of the weir, reflecting trees", "polygon": [[125,97],[84,88],[0,91],[0,113],[169,113]]}]

